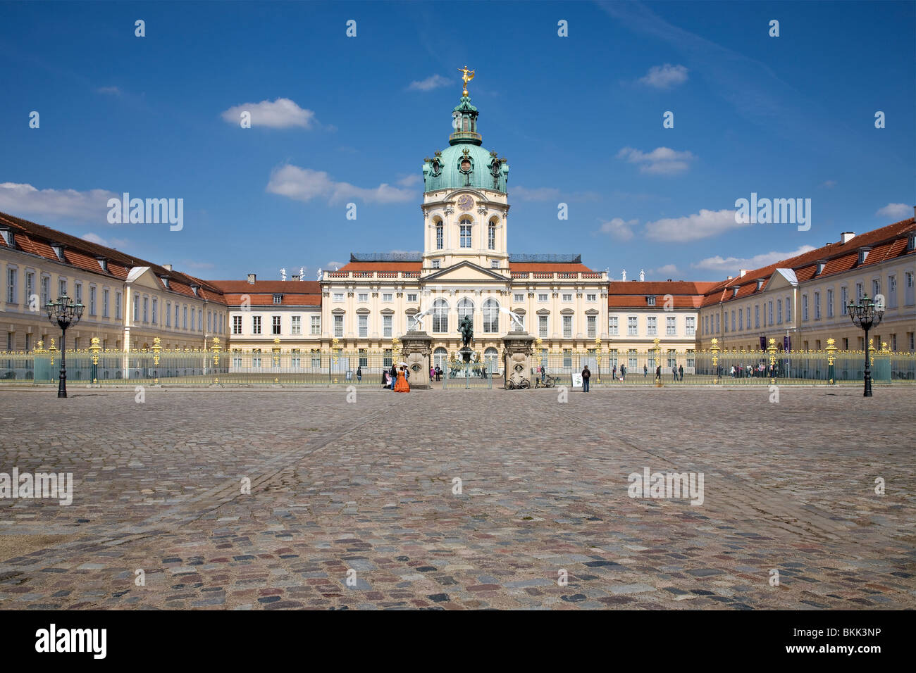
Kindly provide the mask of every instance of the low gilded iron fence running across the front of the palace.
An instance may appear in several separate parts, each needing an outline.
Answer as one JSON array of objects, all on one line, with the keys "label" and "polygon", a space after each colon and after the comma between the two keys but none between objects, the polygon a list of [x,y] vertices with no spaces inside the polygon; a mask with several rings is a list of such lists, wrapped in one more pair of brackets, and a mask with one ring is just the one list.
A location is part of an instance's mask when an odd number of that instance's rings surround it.
[{"label": "low gilded iron fence running across the front of the palace", "polygon": [[[654,385],[658,351],[601,349],[547,351],[535,348],[529,379],[535,385],[551,375],[557,385],[572,385],[585,365],[592,385]],[[481,356],[465,369],[450,358],[440,364],[443,387],[503,385],[502,353]],[[916,355],[870,352],[876,385],[916,385]],[[381,387],[392,364],[403,360],[391,350],[230,350],[225,351],[68,351],[71,385],[362,385]],[[660,357],[661,382],[693,385],[780,384],[861,385],[865,353],[853,351],[769,352],[667,351]],[[0,353],[0,385],[57,384],[60,352]],[[677,376],[674,375],[677,371]],[[470,374],[470,375],[466,375]],[[494,383],[496,382],[496,383]]]}]

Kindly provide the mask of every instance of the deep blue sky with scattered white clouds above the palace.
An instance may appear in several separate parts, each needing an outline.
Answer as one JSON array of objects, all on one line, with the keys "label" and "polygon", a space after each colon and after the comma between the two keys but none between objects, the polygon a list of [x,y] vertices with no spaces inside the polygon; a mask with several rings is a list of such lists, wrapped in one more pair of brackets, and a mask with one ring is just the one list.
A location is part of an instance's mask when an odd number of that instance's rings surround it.
[{"label": "deep blue sky with scattered white clouds above the palace", "polygon": [[[914,7],[0,4],[0,211],[213,279],[416,251],[466,64],[510,252],[716,280],[912,215]],[[181,231],[108,223],[125,191],[183,199]],[[751,192],[811,199],[810,230],[736,224]]]}]

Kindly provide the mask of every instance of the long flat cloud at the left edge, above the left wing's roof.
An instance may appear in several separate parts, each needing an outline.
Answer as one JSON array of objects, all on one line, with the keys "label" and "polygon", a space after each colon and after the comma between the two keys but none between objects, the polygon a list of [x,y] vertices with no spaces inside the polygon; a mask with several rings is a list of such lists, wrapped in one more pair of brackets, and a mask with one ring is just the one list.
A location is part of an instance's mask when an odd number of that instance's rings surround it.
[{"label": "long flat cloud at the left edge, above the left wing's roof", "polygon": [[108,200],[121,194],[108,190],[38,190],[32,185],[0,182],[0,211],[17,216],[71,217],[107,223]]}]

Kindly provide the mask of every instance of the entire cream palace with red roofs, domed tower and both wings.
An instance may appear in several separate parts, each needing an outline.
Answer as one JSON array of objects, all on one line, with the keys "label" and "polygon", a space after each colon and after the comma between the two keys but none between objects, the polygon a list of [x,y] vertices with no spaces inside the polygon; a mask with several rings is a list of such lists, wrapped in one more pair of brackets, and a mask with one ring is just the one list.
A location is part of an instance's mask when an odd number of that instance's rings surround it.
[{"label": "entire cream palace with red roofs, domed tower and both wings", "polygon": [[[474,325],[474,350],[501,373],[509,332],[527,332],[535,354],[563,368],[603,357],[603,367],[654,364],[693,371],[712,339],[725,351],[777,340],[792,350],[862,350],[846,305],[880,296],[884,320],[872,345],[914,350],[916,220],[910,218],[724,281],[608,278],[580,255],[510,252],[506,157],[483,147],[478,111],[465,87],[452,110],[448,146],[423,160],[422,253],[358,253],[317,280],[201,280],[170,265],[0,213],[0,320],[7,351],[33,350],[58,335],[44,315],[61,294],[86,305],[68,346],[92,337],[108,350],[207,348],[221,338],[235,370],[268,359],[293,370],[329,365],[333,350],[384,353],[390,364],[408,332],[431,339],[430,364],[461,347],[459,322]],[[468,73],[471,73],[470,75]],[[72,339],[72,341],[71,341]],[[656,345],[658,340],[658,345]],[[639,359],[651,349],[649,360]],[[270,358],[262,353],[270,353]],[[324,360],[322,362],[322,353]],[[548,357],[549,356],[549,357]],[[367,361],[367,360],[366,360]]]}]

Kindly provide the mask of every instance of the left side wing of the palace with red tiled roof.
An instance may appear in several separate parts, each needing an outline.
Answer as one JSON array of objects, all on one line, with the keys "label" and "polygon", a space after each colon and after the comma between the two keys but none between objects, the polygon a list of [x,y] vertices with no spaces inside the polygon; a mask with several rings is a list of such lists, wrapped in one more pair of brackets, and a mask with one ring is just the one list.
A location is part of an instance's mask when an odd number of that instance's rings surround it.
[{"label": "left side wing of the palace with red tiled roof", "polygon": [[[67,332],[68,349],[93,337],[108,351],[208,348],[224,338],[228,310],[211,283],[0,212],[0,325],[6,351],[32,351],[60,342],[45,313],[48,300],[67,295],[85,309]],[[58,343],[60,346],[60,343]]]}]

